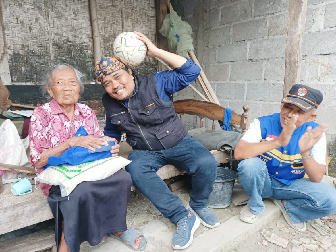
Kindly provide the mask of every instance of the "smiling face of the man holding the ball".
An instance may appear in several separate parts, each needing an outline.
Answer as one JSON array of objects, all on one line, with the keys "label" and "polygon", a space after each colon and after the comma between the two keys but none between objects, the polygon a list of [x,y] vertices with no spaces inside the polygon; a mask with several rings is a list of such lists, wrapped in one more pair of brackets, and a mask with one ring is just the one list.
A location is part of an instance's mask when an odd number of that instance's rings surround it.
[{"label": "smiling face of the man holding the ball", "polygon": [[135,87],[134,77],[130,69],[120,69],[103,78],[105,91],[117,100],[126,100],[132,96]]}]

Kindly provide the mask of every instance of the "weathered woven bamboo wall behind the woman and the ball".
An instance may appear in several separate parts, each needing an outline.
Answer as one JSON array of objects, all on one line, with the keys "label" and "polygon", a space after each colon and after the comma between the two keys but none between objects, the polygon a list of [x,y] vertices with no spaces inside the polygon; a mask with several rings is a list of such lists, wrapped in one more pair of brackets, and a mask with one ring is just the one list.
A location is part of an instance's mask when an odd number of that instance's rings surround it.
[{"label": "weathered woven bamboo wall behind the woman and the ball", "polygon": [[[96,3],[102,55],[113,55],[114,39],[123,31],[137,30],[155,41],[155,0]],[[86,75],[88,83],[94,81],[87,0],[2,0],[0,6],[13,85],[39,84],[43,71],[58,63],[73,65]],[[147,58],[135,72],[155,69],[154,59]]]}]

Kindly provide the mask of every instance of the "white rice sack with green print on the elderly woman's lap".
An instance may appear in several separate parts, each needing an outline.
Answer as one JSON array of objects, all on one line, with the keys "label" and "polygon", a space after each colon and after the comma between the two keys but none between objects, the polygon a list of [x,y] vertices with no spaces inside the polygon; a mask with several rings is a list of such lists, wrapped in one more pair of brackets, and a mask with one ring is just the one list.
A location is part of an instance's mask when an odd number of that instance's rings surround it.
[{"label": "white rice sack with green print on the elderly woman's lap", "polygon": [[117,156],[99,159],[79,165],[49,166],[35,180],[42,183],[59,185],[62,197],[68,196],[83,181],[107,178],[132,161]]}]

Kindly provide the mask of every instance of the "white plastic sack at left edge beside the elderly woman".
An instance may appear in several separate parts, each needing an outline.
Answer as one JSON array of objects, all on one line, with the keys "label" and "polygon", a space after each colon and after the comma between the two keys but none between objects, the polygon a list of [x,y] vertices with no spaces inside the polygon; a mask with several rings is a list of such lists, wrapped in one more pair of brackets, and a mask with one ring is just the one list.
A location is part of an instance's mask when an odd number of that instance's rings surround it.
[{"label": "white plastic sack at left edge beside the elderly woman", "polygon": [[[10,119],[0,126],[0,163],[9,165],[25,165],[29,163],[26,149],[15,125]],[[3,180],[16,179],[17,172],[3,171]]]}]

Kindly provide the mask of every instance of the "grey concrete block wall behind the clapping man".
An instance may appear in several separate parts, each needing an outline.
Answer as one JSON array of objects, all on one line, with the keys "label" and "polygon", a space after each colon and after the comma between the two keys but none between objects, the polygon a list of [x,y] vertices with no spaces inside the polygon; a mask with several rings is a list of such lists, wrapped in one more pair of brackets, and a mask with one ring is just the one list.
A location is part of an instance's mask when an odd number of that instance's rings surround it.
[{"label": "grey concrete block wall behind the clapping man", "polygon": [[[194,46],[222,106],[251,119],[280,110],[285,75],[288,0],[172,1],[196,30]],[[301,82],[320,89],[324,100],[318,123],[329,125],[329,171],[336,176],[336,0],[308,0]],[[201,20],[200,20],[201,19]],[[195,23],[194,23],[195,22]],[[196,85],[198,87],[198,85]],[[200,99],[191,89],[174,98]],[[194,127],[195,120],[188,119]],[[198,120],[197,120],[198,121]],[[197,122],[198,124],[198,122]],[[207,124],[211,125],[210,123]]]}]

